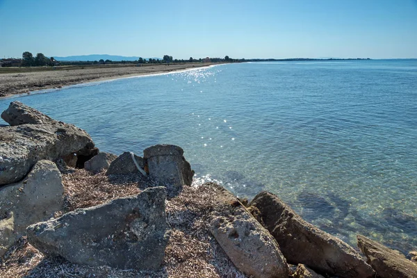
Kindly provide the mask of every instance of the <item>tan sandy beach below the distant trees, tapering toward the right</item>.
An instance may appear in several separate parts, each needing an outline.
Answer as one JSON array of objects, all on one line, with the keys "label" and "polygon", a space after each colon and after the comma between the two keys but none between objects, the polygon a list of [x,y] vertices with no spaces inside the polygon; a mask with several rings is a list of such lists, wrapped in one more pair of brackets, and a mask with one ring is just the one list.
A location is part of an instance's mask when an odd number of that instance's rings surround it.
[{"label": "tan sandy beach below the distant trees, tapering toward the right", "polygon": [[0,97],[61,88],[65,85],[118,79],[122,77],[176,72],[195,67],[208,67],[216,63],[184,63],[158,65],[87,65],[49,68],[2,68],[0,73]]}]

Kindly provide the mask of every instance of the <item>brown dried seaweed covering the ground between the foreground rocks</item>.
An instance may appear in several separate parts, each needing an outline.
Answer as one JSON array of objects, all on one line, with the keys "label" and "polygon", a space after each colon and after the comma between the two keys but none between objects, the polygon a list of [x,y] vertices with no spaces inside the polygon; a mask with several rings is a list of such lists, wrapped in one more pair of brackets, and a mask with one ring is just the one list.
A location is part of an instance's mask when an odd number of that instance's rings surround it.
[{"label": "brown dried seaweed covering the ground between the foreground rocks", "polygon": [[[64,211],[103,204],[112,199],[136,195],[140,188],[155,186],[139,174],[106,176],[82,169],[63,172]],[[22,237],[3,257],[0,277],[224,277],[245,278],[208,231],[208,215],[215,206],[213,187],[186,186],[177,197],[167,200],[167,222],[172,228],[161,270],[146,272],[108,266],[77,265],[62,258],[47,257]]]}]

